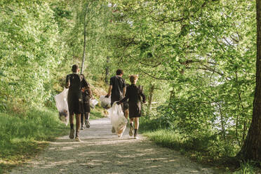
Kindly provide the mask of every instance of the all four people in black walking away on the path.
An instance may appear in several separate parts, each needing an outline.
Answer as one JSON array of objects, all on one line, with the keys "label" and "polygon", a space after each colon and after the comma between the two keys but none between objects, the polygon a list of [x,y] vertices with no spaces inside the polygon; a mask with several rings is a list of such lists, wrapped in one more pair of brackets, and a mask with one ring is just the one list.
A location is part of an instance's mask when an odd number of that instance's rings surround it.
[{"label": "all four people in black walking away on the path", "polygon": [[[130,75],[131,85],[127,84],[122,78],[123,70],[117,69],[116,76],[112,76],[109,81],[109,90],[105,98],[111,96],[111,105],[116,102],[121,105],[124,116],[130,119],[129,135],[138,138],[139,118],[141,116],[141,103],[145,101],[145,95],[142,93],[142,88],[136,86],[138,75]],[[76,141],[81,141],[79,138],[79,130],[84,128],[83,123],[87,128],[90,128],[90,100],[93,98],[90,84],[86,81],[83,74],[79,74],[78,65],[72,66],[72,74],[66,77],[65,88],[68,91],[68,109],[69,123],[71,130],[69,138]],[[76,118],[76,133],[74,137],[74,115]],[[84,121],[83,121],[84,120]],[[134,122],[134,126],[133,126]],[[112,127],[112,133],[115,133],[115,128]]]}]

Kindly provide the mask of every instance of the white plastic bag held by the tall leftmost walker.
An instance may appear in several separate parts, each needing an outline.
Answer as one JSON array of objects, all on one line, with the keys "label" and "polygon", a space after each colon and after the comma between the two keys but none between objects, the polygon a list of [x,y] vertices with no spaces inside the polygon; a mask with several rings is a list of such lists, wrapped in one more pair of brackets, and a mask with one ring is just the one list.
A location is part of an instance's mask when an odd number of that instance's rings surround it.
[{"label": "white plastic bag held by the tall leftmost walker", "polygon": [[69,122],[69,109],[67,102],[68,90],[69,89],[65,88],[62,93],[55,95],[55,102],[59,112],[59,119],[62,121],[62,123],[65,123],[66,126]]}]

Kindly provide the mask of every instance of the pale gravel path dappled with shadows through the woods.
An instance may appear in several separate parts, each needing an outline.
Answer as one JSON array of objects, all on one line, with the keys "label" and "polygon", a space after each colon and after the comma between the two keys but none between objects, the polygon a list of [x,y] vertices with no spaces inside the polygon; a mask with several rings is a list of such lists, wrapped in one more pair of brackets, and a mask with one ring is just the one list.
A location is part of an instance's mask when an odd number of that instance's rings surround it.
[{"label": "pale gravel path dappled with shadows through the woods", "polygon": [[180,153],[158,147],[146,138],[112,135],[109,119],[91,121],[82,142],[68,136],[51,142],[45,152],[11,173],[214,173]]}]

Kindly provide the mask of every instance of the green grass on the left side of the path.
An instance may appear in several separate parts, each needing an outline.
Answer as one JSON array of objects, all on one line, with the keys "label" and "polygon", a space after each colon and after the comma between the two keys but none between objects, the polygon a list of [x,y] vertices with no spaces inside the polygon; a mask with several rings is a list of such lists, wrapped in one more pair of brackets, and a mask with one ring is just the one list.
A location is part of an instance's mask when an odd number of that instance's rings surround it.
[{"label": "green grass on the left side of the path", "polygon": [[0,173],[39,153],[47,141],[67,134],[67,129],[51,109],[31,109],[27,114],[0,113]]}]

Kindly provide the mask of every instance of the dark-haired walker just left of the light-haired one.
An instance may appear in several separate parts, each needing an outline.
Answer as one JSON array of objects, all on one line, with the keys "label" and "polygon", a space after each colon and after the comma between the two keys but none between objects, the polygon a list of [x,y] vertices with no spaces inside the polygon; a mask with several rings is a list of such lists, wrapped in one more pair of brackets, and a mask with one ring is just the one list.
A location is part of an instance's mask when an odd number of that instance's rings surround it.
[{"label": "dark-haired walker just left of the light-haired one", "polygon": [[[117,69],[116,76],[112,76],[112,78],[109,79],[109,90],[105,98],[109,98],[111,95],[111,105],[113,105],[114,102],[123,99],[125,96],[126,84],[122,76],[123,70]],[[123,109],[123,105],[121,105],[121,108]],[[112,127],[112,133],[115,133],[114,127]]]}]

